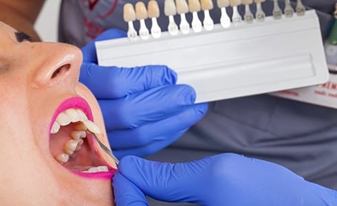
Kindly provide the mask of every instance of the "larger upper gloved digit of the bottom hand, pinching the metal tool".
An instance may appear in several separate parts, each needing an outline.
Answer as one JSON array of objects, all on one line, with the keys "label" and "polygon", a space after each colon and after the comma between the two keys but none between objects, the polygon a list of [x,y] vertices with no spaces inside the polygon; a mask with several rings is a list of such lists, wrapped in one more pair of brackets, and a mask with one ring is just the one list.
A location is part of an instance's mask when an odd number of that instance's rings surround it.
[{"label": "larger upper gloved digit of the bottom hand, pinching the metal tool", "polygon": [[121,159],[118,169],[124,177],[152,198],[167,202],[194,203],[204,189],[201,184],[207,163],[207,158],[173,164],[127,156]]}]

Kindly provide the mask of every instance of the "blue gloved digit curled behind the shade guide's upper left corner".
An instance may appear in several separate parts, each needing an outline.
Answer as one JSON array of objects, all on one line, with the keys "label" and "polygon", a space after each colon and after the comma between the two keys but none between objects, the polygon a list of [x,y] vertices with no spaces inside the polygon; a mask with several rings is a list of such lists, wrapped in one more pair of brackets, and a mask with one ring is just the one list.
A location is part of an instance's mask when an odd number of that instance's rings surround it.
[{"label": "blue gloved digit curled behind the shade guide's upper left corner", "polygon": [[127,36],[127,32],[124,32],[123,30],[119,29],[110,29],[103,32],[97,38],[95,38],[94,41],[91,41],[90,43],[82,47],[83,61],[97,63],[97,55],[95,47],[96,41],[103,41],[112,38],[122,38],[125,36]]}]

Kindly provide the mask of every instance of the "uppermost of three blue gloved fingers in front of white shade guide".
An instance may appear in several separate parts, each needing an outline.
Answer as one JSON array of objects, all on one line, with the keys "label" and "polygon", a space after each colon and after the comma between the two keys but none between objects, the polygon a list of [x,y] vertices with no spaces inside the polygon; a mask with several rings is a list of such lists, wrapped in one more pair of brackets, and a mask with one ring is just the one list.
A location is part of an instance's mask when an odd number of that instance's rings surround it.
[{"label": "uppermost of three blue gloved fingers in front of white shade guide", "polygon": [[175,71],[164,65],[129,69],[83,63],[80,71],[80,82],[85,84],[97,99],[118,99],[131,93],[172,85],[176,81]]}]

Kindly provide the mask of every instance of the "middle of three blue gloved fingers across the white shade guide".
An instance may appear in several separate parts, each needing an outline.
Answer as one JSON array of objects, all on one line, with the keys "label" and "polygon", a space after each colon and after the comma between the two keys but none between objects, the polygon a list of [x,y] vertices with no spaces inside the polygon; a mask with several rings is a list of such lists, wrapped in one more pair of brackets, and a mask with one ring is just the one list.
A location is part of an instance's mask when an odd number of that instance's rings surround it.
[{"label": "middle of three blue gloved fingers across the white shade guide", "polygon": [[[174,98],[173,98],[174,97]],[[179,113],[195,102],[195,91],[187,85],[156,87],[118,100],[98,100],[108,131],[137,128]]]}]

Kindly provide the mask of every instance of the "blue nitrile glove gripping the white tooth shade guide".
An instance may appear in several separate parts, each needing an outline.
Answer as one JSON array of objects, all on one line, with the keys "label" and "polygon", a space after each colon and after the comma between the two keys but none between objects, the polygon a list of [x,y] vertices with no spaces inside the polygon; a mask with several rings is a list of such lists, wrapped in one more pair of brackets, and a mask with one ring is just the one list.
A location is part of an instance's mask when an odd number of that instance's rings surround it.
[{"label": "blue nitrile glove gripping the white tooth shade guide", "polygon": [[[95,41],[122,36],[126,36],[122,30],[107,30]],[[166,66],[100,67],[94,41],[82,52],[80,82],[98,99],[109,142],[118,158],[161,150],[207,111],[208,104],[193,104],[193,88],[175,85],[177,75]]]}]

